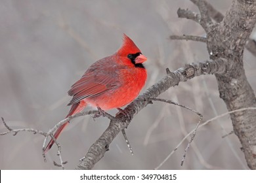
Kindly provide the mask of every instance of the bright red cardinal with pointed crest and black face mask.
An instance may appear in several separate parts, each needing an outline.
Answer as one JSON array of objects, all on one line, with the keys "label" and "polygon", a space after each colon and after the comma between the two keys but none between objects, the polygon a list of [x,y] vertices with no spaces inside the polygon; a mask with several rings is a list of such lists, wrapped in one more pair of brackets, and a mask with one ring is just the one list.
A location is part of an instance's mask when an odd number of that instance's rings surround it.
[{"label": "bright red cardinal with pointed crest and black face mask", "polygon": [[[123,45],[115,54],[99,59],[87,69],[83,76],[72,85],[68,95],[73,96],[68,116],[81,112],[87,105],[99,110],[108,110],[131,103],[144,86],[147,73],[142,63],[146,57],[135,43],[123,34]],[[57,139],[68,122],[54,133]],[[45,153],[53,146],[51,139]]]}]

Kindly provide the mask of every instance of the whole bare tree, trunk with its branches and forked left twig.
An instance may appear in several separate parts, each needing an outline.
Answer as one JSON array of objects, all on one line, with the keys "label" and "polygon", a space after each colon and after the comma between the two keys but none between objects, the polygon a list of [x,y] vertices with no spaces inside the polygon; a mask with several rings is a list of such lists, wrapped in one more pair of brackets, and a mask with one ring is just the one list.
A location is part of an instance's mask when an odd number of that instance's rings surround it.
[{"label": "whole bare tree, trunk with its branches and forked left twig", "polygon": [[[142,108],[151,103],[152,98],[158,97],[168,88],[176,86],[179,82],[184,82],[195,76],[214,74],[217,78],[220,97],[226,103],[226,107],[230,112],[232,119],[234,133],[240,139],[244,149],[245,159],[250,169],[256,169],[256,113],[252,110],[241,110],[241,108],[253,108],[256,106],[255,94],[247,81],[243,67],[243,53],[246,48],[256,56],[255,41],[248,41],[249,35],[256,23],[256,0],[233,0],[232,6],[223,16],[220,12],[215,10],[205,0],[190,0],[200,10],[200,14],[191,12],[190,10],[178,10],[180,18],[188,18],[202,25],[207,33],[207,38],[200,38],[194,36],[176,37],[176,39],[186,39],[194,41],[202,41],[207,43],[207,50],[211,61],[204,61],[202,63],[191,63],[184,67],[177,69],[171,73],[167,69],[167,76],[163,77],[159,82],[148,88],[145,93],[137,97],[130,105],[128,105],[124,112],[120,112],[116,117],[106,115],[110,119],[110,125],[102,133],[100,138],[89,148],[89,152],[85,158],[76,167],[76,169],[92,169],[108,151],[108,147],[116,135],[125,129],[133,119],[133,116],[138,114]],[[214,24],[211,20],[215,20]],[[173,38],[173,37],[172,37]],[[98,112],[98,111],[96,111]],[[53,139],[53,131],[55,131],[61,124],[77,116],[89,114],[88,111],[75,114],[65,120],[62,120],[48,133],[36,129],[12,129],[5,123],[3,124],[8,129],[8,133],[16,135],[20,131],[30,131],[39,133],[45,136],[43,142],[43,149],[47,137],[51,136]],[[95,114],[95,112],[91,113]],[[60,144],[58,146],[58,155],[60,156]],[[45,158],[45,155],[43,153]],[[64,162],[60,156],[60,165],[64,168]]]}]

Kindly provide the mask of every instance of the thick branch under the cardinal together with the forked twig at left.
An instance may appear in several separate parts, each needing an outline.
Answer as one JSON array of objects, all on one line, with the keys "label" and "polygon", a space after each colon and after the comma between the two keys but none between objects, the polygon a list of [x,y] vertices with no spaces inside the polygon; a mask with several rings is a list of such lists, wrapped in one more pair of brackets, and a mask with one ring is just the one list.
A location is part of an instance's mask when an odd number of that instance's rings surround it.
[{"label": "thick branch under the cardinal together with the forked twig at left", "polygon": [[[106,113],[105,116],[110,119],[110,125],[104,131],[104,133],[100,136],[100,138],[89,148],[89,151],[85,155],[83,159],[81,159],[80,165],[78,165],[75,169],[92,169],[95,163],[97,163],[108,151],[108,147],[116,135],[123,129],[125,129],[129,124],[130,120],[133,119],[142,108],[146,107],[149,103],[152,103],[151,99],[154,97],[158,97],[161,93],[165,92],[168,88],[172,86],[176,86],[179,82],[184,82],[188,79],[194,78],[195,76],[205,75],[205,74],[223,74],[228,70],[228,62],[226,59],[217,59],[216,61],[204,61],[202,63],[190,63],[177,69],[177,71],[171,73],[169,69],[167,69],[167,76],[163,77],[159,82],[148,88],[143,95],[140,95],[133,101],[130,105],[128,105],[123,112],[119,112],[119,114],[114,117],[110,114]],[[73,116],[69,116],[68,118],[58,122],[58,124],[54,125],[47,133],[43,131],[39,131],[37,129],[11,129],[3,120],[3,124],[9,131],[1,133],[0,135],[6,135],[8,133],[13,132],[14,135],[20,131],[31,131],[33,133],[39,133],[45,136],[45,140],[43,142],[43,158],[45,159],[45,144],[47,141],[47,137],[53,137],[53,132],[62,124],[72,120],[73,118],[77,118],[78,116],[84,116],[88,114],[98,114],[98,110],[89,110],[85,112],[79,112]],[[56,139],[54,139],[56,140]],[[55,141],[55,144],[58,146],[58,156],[60,158],[60,165],[54,162],[54,165],[58,167],[62,167],[64,169],[64,164],[66,161],[62,160],[61,157],[61,146]],[[45,159],[46,160],[46,159]]]}]

